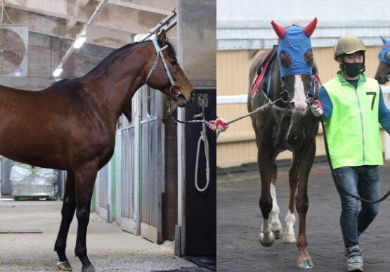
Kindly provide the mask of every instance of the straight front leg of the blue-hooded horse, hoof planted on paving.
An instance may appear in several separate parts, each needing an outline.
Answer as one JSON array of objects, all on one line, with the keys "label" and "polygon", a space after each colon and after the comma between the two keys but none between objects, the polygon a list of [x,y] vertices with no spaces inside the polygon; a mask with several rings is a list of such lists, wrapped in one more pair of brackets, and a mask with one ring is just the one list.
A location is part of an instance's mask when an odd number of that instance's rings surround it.
[{"label": "straight front leg of the blue-hooded horse, hoof planted on paving", "polygon": [[297,247],[299,257],[297,260],[298,268],[313,268],[313,261],[307,251],[306,240],[306,214],[308,211],[308,174],[313,165],[314,156],[316,153],[316,143],[308,143],[303,150],[299,151],[299,183],[297,196],[295,197],[297,213],[299,216],[299,233],[297,239]]}]

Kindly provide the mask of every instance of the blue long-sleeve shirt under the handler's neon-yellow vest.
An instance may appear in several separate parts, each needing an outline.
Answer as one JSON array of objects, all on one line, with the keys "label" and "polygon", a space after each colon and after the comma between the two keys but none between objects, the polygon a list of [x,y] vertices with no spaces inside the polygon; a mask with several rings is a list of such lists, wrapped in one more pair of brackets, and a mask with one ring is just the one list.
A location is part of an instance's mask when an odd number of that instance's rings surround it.
[{"label": "blue long-sleeve shirt under the handler's neon-yellow vest", "polygon": [[[358,79],[356,80],[348,80],[348,82],[355,87],[355,89],[358,86]],[[332,115],[332,101],[330,100],[329,94],[327,93],[326,89],[321,86],[320,89],[320,95],[318,96],[318,100],[323,105],[323,115],[322,120],[323,122],[326,122],[330,116]],[[383,95],[382,95],[382,89],[379,87],[379,107],[378,107],[378,119],[379,124],[382,125],[383,129],[390,134],[390,111],[386,107],[386,104],[384,103]]]}]

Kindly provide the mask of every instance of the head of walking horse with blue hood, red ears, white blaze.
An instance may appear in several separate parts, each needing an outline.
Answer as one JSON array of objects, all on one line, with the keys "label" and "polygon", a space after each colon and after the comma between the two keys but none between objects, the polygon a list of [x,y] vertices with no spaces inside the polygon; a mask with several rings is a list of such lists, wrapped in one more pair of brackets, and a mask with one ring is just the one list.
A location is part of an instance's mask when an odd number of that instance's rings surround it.
[{"label": "head of walking horse with blue hood, red ears, white blaze", "polygon": [[294,115],[304,115],[313,91],[313,49],[310,37],[316,29],[317,18],[306,27],[280,27],[271,22],[279,37],[278,58],[283,101],[289,102]]}]

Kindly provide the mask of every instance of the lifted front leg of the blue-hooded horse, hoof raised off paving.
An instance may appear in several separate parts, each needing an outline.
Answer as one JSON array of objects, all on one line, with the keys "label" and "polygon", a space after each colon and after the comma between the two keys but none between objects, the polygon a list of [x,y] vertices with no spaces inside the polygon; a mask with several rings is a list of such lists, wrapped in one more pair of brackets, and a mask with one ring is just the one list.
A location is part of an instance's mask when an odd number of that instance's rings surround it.
[{"label": "lifted front leg of the blue-hooded horse, hoof raised off paving", "polygon": [[272,231],[272,218],[270,213],[273,208],[273,198],[271,196],[271,181],[273,176],[273,165],[275,162],[275,154],[272,150],[268,150],[264,145],[258,145],[257,163],[259,165],[261,178],[261,193],[259,206],[263,215],[263,223],[261,224],[261,232],[259,242],[264,247],[271,247],[275,242],[275,235]]}]

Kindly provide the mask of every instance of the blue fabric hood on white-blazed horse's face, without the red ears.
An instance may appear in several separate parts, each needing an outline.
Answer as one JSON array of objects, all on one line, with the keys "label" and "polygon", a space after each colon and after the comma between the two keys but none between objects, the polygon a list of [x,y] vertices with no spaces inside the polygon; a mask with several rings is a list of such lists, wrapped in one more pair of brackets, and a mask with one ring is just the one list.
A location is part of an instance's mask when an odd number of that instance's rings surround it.
[{"label": "blue fabric hood on white-blazed horse's face, without the red ears", "polygon": [[[279,39],[278,56],[284,51],[291,57],[291,65],[288,68],[280,66],[280,75],[288,77],[291,75],[312,75],[311,66],[307,65],[304,54],[306,51],[313,51],[310,38],[306,36],[301,27],[292,26],[286,29],[285,37]],[[280,59],[279,59],[280,62]]]}]

